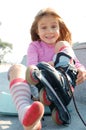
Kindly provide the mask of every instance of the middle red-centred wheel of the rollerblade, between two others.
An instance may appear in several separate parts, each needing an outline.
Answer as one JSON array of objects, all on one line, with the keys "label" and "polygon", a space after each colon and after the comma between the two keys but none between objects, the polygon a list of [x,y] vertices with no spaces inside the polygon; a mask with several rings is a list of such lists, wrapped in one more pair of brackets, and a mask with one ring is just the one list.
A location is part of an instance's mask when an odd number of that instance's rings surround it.
[{"label": "middle red-centred wheel of the rollerblade, between two others", "polygon": [[47,93],[46,93],[46,90],[44,88],[42,88],[39,92],[39,98],[40,98],[40,101],[46,105],[46,106],[49,106],[51,104],[51,102],[49,101],[49,99],[47,98]]}]

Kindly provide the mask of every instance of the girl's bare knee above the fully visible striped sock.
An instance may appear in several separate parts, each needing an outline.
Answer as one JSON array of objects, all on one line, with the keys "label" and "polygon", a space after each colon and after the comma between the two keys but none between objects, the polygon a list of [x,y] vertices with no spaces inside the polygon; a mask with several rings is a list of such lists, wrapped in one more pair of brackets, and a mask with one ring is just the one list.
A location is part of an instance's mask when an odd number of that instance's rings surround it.
[{"label": "girl's bare knee above the fully visible striped sock", "polygon": [[25,79],[26,67],[22,64],[15,64],[8,71],[8,80],[12,81],[17,78]]}]

